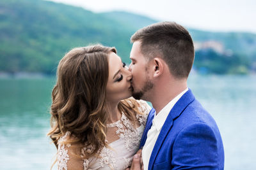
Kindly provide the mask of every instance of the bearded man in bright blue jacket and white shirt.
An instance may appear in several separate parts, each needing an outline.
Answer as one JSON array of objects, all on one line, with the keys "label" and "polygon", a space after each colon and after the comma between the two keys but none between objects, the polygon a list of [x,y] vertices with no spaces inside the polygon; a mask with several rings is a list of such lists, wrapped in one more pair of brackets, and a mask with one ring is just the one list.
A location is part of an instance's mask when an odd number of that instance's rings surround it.
[{"label": "bearded man in bright blue jacket and white shirt", "polygon": [[133,97],[152,103],[131,169],[223,169],[224,150],[214,119],[196,101],[187,80],[195,51],[189,32],[159,22],[131,38]]}]

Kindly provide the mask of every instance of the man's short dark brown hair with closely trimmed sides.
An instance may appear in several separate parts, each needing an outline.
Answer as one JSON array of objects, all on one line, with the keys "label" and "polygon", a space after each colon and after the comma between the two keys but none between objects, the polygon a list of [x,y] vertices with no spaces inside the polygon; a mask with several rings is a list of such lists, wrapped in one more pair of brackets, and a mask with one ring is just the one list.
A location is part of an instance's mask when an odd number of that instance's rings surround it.
[{"label": "man's short dark brown hair with closely trimmed sides", "polygon": [[195,58],[189,32],[175,22],[158,22],[136,31],[131,42],[141,41],[141,53],[148,60],[162,57],[175,78],[188,78]]}]

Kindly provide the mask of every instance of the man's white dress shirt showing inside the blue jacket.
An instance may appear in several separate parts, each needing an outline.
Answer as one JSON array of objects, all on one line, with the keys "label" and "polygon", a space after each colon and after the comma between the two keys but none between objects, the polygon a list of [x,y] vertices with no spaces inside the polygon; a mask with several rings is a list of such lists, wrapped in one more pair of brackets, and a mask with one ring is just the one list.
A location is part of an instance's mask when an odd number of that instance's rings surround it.
[{"label": "man's white dress shirt showing inside the blue jacket", "polygon": [[178,96],[176,96],[172,101],[170,101],[164,108],[159,111],[159,113],[154,115],[154,118],[152,120],[152,127],[149,129],[148,134],[147,134],[147,140],[145,145],[143,146],[142,149],[142,160],[144,164],[144,170],[148,169],[148,163],[149,159],[152,153],[152,150],[155,146],[156,140],[159,136],[159,133],[164,125],[164,122],[166,118],[168,117],[168,114],[172,110],[173,106],[177,101],[179,101],[180,97],[183,96],[184,93],[188,91],[188,88],[181,92]]}]

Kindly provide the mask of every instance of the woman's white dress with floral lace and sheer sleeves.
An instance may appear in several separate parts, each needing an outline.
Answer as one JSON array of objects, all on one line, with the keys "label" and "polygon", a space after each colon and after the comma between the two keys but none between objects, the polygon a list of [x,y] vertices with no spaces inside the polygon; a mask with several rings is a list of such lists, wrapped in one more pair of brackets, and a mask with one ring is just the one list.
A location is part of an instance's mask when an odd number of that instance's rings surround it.
[{"label": "woman's white dress with floral lace and sheer sleeves", "polygon": [[[72,163],[70,158],[70,144],[64,145],[61,142],[65,141],[70,135],[67,132],[65,136],[61,137],[58,145],[57,163],[59,170],[67,170],[70,167],[72,169],[126,169],[131,165],[133,155],[138,151],[140,146],[140,139],[143,134],[145,124],[147,121],[148,112],[150,106],[147,103],[140,104],[140,111],[143,115],[136,115],[139,125],[134,127],[132,122],[122,113],[121,120],[113,124],[108,124],[108,129],[115,129],[115,136],[117,139],[109,146],[111,148],[104,147],[99,153],[99,157],[90,157],[89,159],[81,159],[79,164]],[[90,152],[92,148],[83,148],[85,152]],[[77,167],[77,168],[76,168]]]}]

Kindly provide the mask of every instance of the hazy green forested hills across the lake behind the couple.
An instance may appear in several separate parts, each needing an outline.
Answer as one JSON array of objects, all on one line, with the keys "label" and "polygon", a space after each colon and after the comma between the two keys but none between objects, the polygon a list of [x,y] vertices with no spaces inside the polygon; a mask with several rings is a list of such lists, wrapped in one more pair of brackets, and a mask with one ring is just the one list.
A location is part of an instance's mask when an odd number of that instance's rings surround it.
[{"label": "hazy green forested hills across the lake behind the couple", "polygon": [[[0,73],[55,74],[58,61],[68,50],[93,43],[115,46],[118,55],[129,62],[131,35],[154,22],[124,11],[93,13],[51,1],[1,0]],[[217,74],[256,71],[255,34],[189,32],[195,42],[217,41],[232,52],[227,55],[211,48],[198,49],[196,70]]]}]

